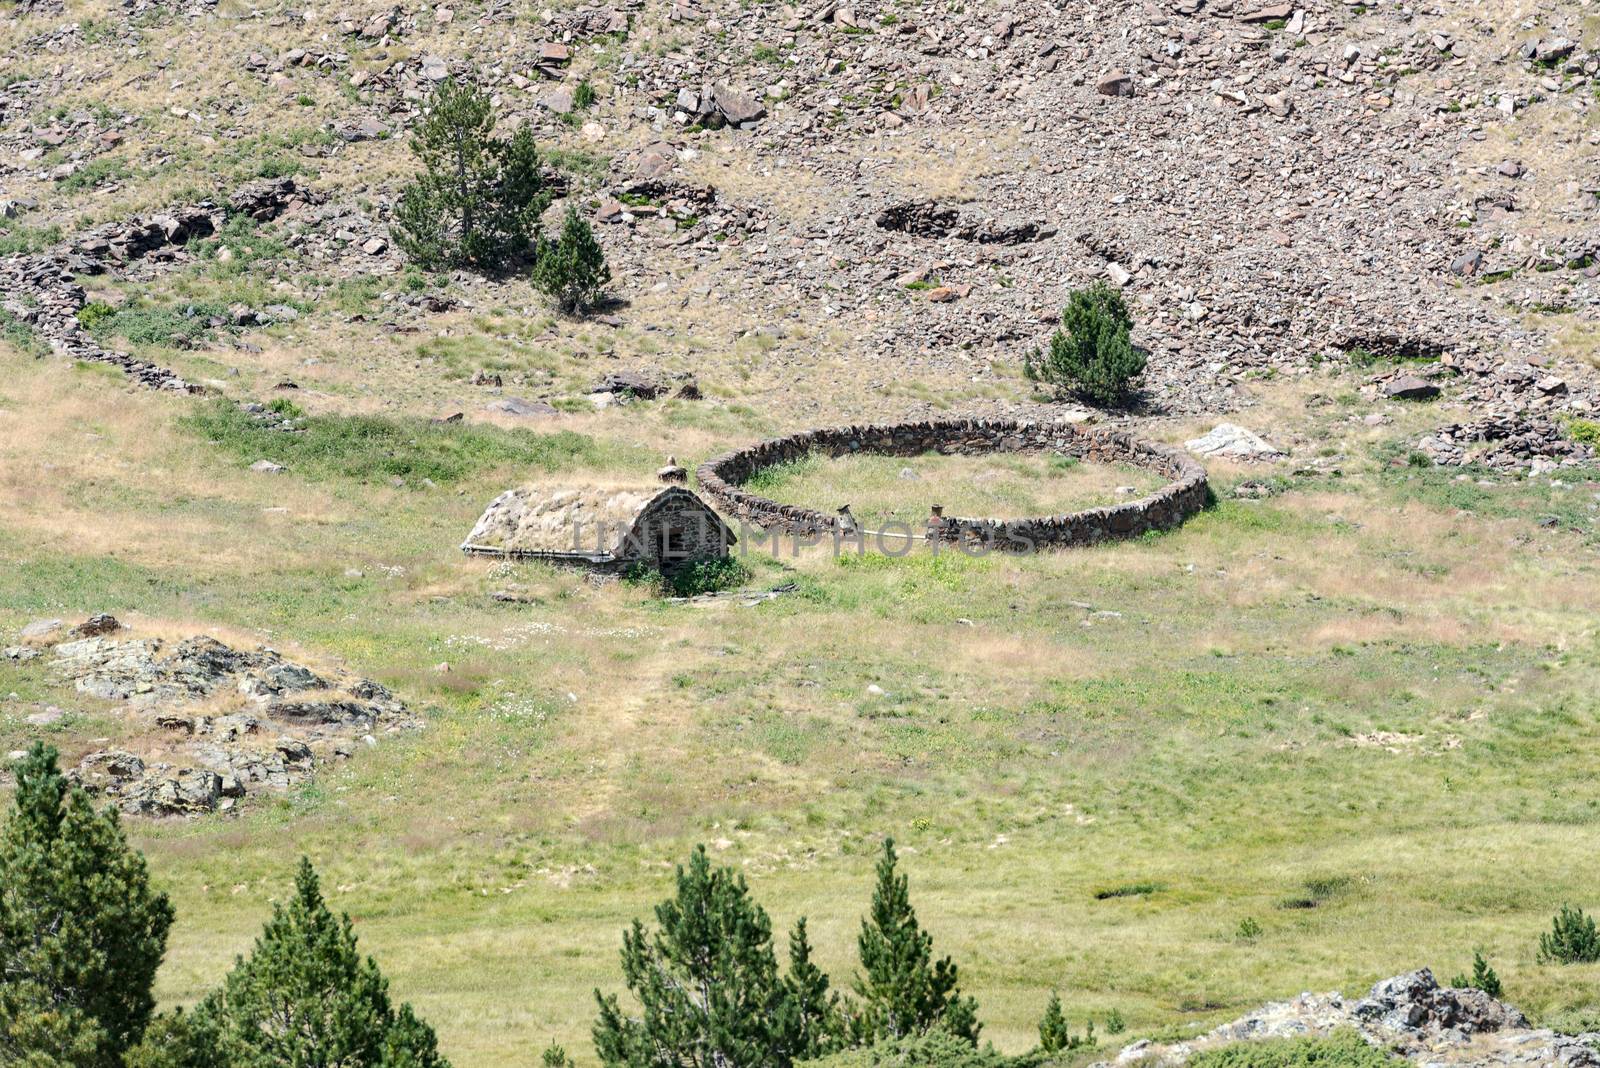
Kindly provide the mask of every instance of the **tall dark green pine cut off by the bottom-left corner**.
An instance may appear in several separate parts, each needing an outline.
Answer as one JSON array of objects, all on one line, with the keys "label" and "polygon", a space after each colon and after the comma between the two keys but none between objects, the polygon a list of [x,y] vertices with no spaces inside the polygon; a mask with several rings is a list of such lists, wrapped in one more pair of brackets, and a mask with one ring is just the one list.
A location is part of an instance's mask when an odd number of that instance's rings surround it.
[{"label": "tall dark green pine cut off by the bottom-left corner", "polygon": [[110,1068],[149,1025],[173,908],[56,758],[16,764],[0,831],[0,1065]]}]

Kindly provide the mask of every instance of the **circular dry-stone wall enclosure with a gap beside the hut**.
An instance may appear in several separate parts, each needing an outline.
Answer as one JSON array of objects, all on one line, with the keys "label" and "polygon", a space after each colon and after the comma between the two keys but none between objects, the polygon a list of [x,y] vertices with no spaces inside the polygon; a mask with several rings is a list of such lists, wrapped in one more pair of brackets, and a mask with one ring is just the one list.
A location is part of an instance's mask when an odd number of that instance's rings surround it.
[{"label": "circular dry-stone wall enclosure with a gap beside the hut", "polygon": [[1147,497],[1070,515],[1022,520],[944,516],[928,534],[952,542],[995,548],[1093,545],[1115,537],[1178,526],[1205,507],[1206,475],[1189,454],[1139,441],[1120,430],[1072,424],[946,419],[894,425],[832,427],[773,438],[701,464],[696,476],[725,512],[768,531],[787,534],[842,532],[838,516],[779,504],[739,486],[757,472],[797,460],[810,452],[830,457],[870,452],[882,456],[981,456],[986,452],[1062,452],[1099,464],[1134,464],[1168,478]]}]

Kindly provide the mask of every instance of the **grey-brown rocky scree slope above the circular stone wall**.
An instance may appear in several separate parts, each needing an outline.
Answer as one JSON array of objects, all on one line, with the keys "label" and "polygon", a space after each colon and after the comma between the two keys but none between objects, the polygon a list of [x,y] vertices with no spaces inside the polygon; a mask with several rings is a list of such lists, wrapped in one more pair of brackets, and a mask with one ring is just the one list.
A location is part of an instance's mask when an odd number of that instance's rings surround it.
[{"label": "grey-brown rocky scree slope above the circular stone wall", "polygon": [[[1600,58],[1576,5],[1514,34],[1488,10],[1328,0],[1112,3],[1080,19],[1035,0],[674,0],[534,26],[506,3],[245,16],[200,3],[166,18],[222,45],[264,26],[278,46],[235,58],[254,93],[182,109],[205,136],[270,125],[262,94],[341,86],[312,157],[373,152],[434,85],[475,72],[509,122],[610,160],[584,192],[621,280],[650,288],[688,269],[685,307],[738,297],[741,333],[843,325],[864,406],[918,371],[992,379],[1048,334],[1070,286],[1106,278],[1152,350],[1147,411],[1222,411],[1253,376],[1352,353],[1424,360],[1470,409],[1432,451],[1443,462],[1506,440],[1530,443],[1522,465],[1562,462],[1534,443],[1594,411],[1594,369],[1552,366],[1525,312],[1595,320],[1597,184],[1531,150],[1483,158],[1512,137],[1586,158]],[[131,16],[112,37],[157,50]],[[3,90],[0,144],[18,153],[0,157],[0,184],[48,189],[147,118],[51,117],[53,93],[126,54],[75,24],[26,40],[61,62]],[[579,78],[603,86],[581,115]],[[395,190],[363,192],[381,221]],[[350,237],[322,262],[392,270],[379,235]],[[803,347],[768,358],[770,389],[800,416],[818,409],[798,385]]]}]

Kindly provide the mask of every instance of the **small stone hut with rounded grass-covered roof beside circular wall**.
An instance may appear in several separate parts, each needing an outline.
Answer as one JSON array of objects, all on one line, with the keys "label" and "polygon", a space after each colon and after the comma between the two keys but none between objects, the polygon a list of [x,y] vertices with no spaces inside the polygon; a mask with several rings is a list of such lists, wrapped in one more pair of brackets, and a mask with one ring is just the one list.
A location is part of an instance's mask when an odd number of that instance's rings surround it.
[{"label": "small stone hut with rounded grass-covered roof beside circular wall", "polygon": [[726,556],[736,540],[722,516],[683,486],[522,486],[490,502],[461,550],[598,571],[629,564],[672,571]]}]

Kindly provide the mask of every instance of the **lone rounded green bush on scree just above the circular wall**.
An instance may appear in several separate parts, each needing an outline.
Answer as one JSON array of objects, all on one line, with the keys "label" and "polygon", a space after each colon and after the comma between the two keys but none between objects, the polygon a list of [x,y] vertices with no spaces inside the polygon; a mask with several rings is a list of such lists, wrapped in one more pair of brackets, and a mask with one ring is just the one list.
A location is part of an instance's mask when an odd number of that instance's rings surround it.
[{"label": "lone rounded green bush on scree just above the circular wall", "polygon": [[1029,357],[1022,373],[1096,404],[1120,404],[1133,379],[1144,371],[1146,357],[1133,347],[1131,329],[1133,317],[1122,293],[1094,283],[1069,297],[1061,328],[1050,337],[1050,350]]}]

